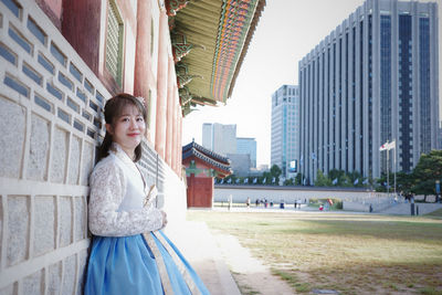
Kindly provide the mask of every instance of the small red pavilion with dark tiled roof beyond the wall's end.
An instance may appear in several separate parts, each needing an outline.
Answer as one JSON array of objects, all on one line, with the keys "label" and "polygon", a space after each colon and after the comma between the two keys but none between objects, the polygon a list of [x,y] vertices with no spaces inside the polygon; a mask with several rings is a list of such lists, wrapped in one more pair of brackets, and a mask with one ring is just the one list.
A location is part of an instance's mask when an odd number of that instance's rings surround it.
[{"label": "small red pavilion with dark tiled roof beyond the wall's end", "polygon": [[213,180],[232,173],[230,160],[192,141],[182,147],[187,177],[187,206],[212,208]]}]

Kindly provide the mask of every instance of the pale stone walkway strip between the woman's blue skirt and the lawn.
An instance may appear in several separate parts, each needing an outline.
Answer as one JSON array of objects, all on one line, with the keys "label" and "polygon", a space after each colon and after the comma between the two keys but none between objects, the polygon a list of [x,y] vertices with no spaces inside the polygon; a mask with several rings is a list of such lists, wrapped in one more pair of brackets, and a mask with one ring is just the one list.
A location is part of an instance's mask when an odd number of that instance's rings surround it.
[{"label": "pale stone walkway strip between the woman's blue skirt and the lawn", "polygon": [[168,226],[166,233],[199,274],[212,295],[241,295],[206,223],[186,221]]}]

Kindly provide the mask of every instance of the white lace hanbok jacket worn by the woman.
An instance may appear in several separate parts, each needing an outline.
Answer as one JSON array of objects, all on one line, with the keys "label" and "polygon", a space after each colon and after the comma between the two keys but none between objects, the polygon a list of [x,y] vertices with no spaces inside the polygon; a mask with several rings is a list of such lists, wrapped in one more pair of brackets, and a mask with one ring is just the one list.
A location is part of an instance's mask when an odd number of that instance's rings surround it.
[{"label": "white lace hanbok jacket worn by the woman", "polygon": [[90,230],[95,235],[126,236],[159,230],[162,213],[144,207],[148,186],[140,168],[114,143],[109,156],[91,175]]}]

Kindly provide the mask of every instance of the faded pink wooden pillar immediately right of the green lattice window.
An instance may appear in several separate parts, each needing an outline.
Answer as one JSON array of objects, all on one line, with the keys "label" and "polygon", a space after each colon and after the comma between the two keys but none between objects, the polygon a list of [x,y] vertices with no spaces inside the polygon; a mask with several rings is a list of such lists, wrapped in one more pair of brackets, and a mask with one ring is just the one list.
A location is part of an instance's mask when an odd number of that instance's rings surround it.
[{"label": "faded pink wooden pillar immediately right of the green lattice window", "polygon": [[[135,52],[134,95],[145,98],[146,112],[149,107],[149,73],[150,73],[150,1],[137,3],[137,44]],[[146,138],[150,141],[150,129],[146,123]]]}]

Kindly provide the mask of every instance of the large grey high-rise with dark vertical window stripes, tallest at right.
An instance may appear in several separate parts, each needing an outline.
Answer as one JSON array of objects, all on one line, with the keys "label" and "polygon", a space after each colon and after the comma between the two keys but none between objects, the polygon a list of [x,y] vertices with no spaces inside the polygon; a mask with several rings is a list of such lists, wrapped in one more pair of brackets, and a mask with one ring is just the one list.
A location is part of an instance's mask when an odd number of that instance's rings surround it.
[{"label": "large grey high-rise with dark vertical window stripes, tallest at right", "polygon": [[301,171],[411,171],[436,148],[438,7],[367,0],[299,62]]}]

